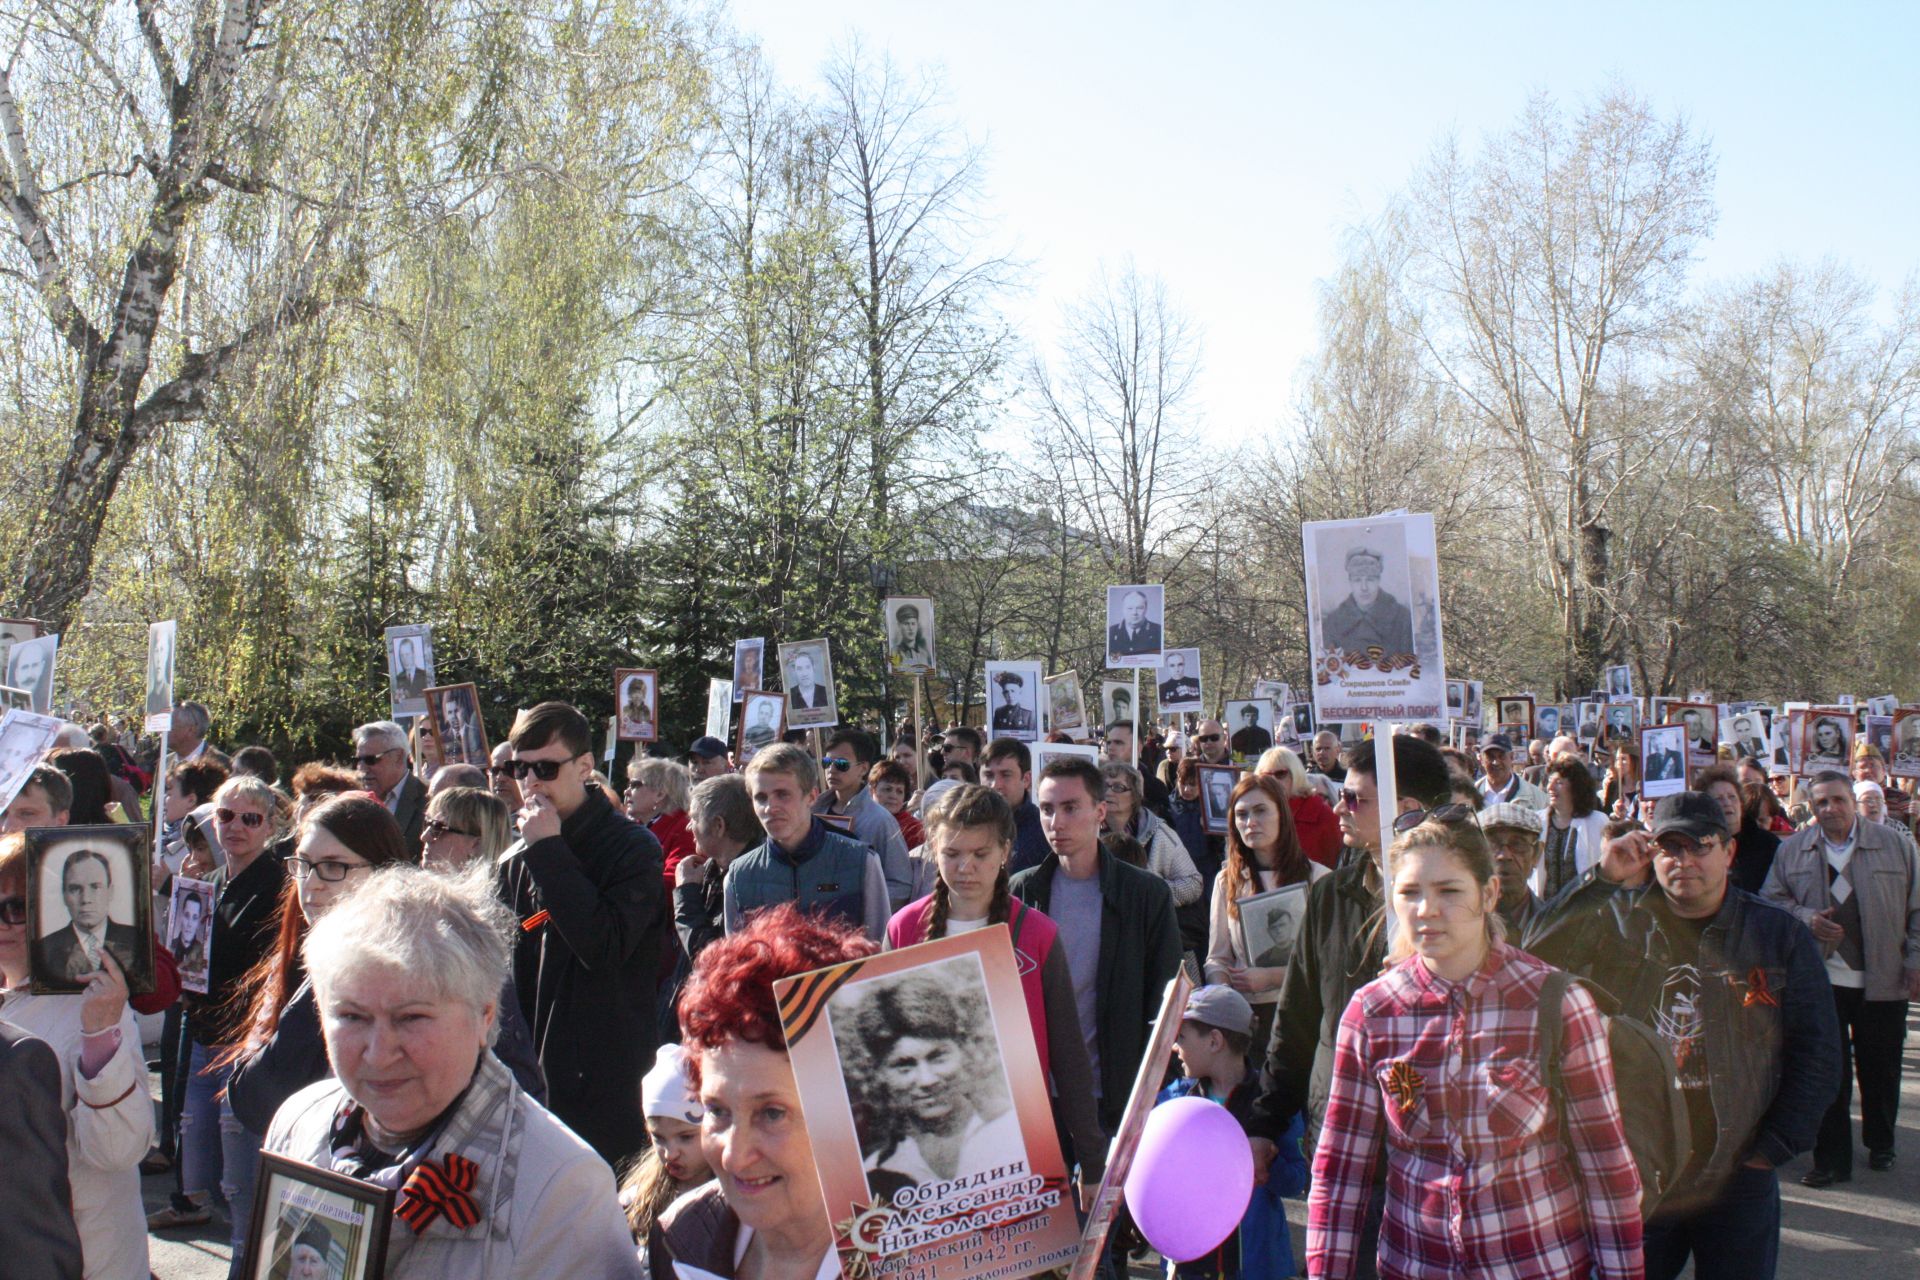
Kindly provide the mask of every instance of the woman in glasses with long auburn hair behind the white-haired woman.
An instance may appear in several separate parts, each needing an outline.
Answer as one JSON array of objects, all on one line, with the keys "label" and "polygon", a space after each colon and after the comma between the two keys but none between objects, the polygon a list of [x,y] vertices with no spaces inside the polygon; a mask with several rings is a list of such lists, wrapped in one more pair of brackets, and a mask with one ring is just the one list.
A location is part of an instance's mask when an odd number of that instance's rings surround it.
[{"label": "woman in glasses with long auburn hair behind the white-haired woman", "polygon": [[[267,1134],[273,1113],[282,1102],[332,1075],[313,983],[307,981],[300,961],[307,931],[336,902],[365,885],[374,869],[397,862],[417,862],[417,858],[401,842],[394,816],[365,791],[321,802],[294,829],[290,877],[280,900],[275,946],[248,973],[242,994],[246,1006],[242,1036],[217,1059],[221,1065],[232,1065],[227,1098],[232,1113],[255,1140]],[[478,875],[492,879],[492,862]],[[513,983],[507,984],[505,996],[511,994]],[[545,1082],[516,1006],[515,1000],[501,1000],[495,1052],[520,1080],[520,1088],[538,1100],[545,1096]]]}]

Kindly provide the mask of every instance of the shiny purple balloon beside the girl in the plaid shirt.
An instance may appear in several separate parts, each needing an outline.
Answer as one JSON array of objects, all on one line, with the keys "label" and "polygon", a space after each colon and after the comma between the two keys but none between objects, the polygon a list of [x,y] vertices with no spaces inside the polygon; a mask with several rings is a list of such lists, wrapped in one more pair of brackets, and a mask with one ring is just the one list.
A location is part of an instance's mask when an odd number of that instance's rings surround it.
[{"label": "shiny purple balloon beside the girl in the plaid shirt", "polygon": [[1162,1257],[1190,1263],[1217,1249],[1254,1196],[1246,1130],[1206,1098],[1160,1103],[1146,1113],[1125,1192],[1135,1226]]}]

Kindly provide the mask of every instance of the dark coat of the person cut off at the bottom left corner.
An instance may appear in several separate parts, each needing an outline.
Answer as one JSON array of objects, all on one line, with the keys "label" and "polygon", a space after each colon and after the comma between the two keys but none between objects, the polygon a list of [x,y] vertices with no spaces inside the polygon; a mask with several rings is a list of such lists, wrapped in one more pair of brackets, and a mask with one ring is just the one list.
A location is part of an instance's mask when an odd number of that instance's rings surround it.
[{"label": "dark coat of the person cut off at the bottom left corner", "polygon": [[44,1040],[0,1021],[0,1257],[13,1280],[79,1280],[81,1234],[67,1182],[60,1061]]}]

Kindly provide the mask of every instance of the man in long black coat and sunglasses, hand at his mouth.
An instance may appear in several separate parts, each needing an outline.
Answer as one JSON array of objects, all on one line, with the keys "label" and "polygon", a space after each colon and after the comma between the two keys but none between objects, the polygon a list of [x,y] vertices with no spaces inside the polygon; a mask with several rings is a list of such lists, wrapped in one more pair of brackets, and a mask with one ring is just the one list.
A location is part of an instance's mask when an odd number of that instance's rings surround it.
[{"label": "man in long black coat and sunglasses, hand at his mouth", "polygon": [[607,1163],[647,1144],[664,854],[591,785],[593,731],[566,702],[522,712],[507,739],[524,804],[499,864],[520,919],[513,983],[547,1073],[547,1107]]}]

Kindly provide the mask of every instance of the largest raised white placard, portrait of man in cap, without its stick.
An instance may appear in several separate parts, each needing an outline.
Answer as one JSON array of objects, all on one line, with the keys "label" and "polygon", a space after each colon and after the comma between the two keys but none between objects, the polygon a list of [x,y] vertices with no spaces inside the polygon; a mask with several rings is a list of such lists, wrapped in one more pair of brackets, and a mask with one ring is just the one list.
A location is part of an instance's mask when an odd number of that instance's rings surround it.
[{"label": "largest raised white placard, portrait of man in cap, without its stick", "polygon": [[1315,718],[1438,722],[1446,651],[1432,516],[1319,520],[1300,537]]}]

